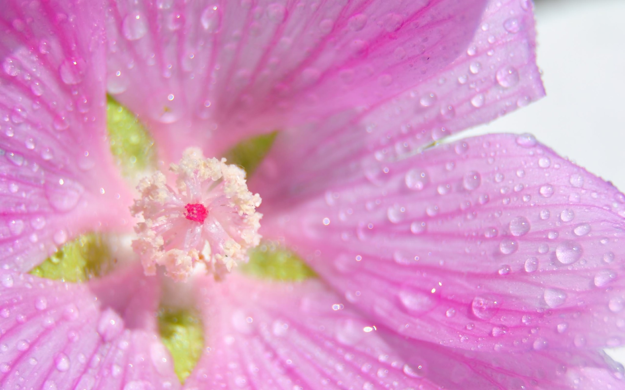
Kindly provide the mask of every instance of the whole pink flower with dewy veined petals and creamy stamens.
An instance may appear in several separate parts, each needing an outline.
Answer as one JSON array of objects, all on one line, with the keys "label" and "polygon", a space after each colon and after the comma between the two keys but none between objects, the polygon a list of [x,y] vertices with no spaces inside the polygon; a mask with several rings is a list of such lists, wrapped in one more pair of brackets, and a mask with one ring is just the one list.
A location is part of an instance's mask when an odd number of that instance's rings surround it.
[{"label": "whole pink flower with dewy veined petals and creamy stamens", "polygon": [[[625,195],[531,135],[427,147],[544,94],[531,7],[6,1],[0,387],[622,388],[601,348],[625,337]],[[227,237],[256,245],[241,226],[259,202],[242,177],[229,192],[197,169],[178,188],[158,175],[139,187],[133,211],[171,223],[138,225],[143,266],[121,241],[101,278],[30,275],[83,233],[133,234],[107,92],[148,125],[163,167],[189,147],[221,157],[279,130],[248,183],[262,197],[259,233],[319,278],[259,280],[229,265],[239,252]],[[192,223],[212,223],[213,202],[240,218],[217,220],[224,236],[211,243]],[[141,245],[168,232],[195,232],[211,251]],[[206,276],[173,287],[145,275],[165,266],[184,279],[201,261]],[[183,385],[159,337],[161,299],[201,313],[206,345]]]}]

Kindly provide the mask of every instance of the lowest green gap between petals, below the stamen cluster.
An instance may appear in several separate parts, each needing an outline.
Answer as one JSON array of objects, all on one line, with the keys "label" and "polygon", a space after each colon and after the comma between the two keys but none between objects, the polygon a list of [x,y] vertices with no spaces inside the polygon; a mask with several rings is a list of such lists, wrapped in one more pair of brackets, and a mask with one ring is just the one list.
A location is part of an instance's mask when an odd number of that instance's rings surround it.
[{"label": "lowest green gap between petals, below the stamen cluster", "polygon": [[163,344],[174,361],[174,371],[181,383],[187,379],[204,348],[204,329],[196,313],[162,308],[158,313]]}]

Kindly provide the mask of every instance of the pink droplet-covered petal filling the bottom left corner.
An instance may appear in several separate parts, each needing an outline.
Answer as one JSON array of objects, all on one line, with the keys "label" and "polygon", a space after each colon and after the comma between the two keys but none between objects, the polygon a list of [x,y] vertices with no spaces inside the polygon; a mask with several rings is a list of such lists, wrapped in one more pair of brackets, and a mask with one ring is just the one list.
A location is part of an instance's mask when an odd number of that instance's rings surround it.
[{"label": "pink droplet-covered petal filling the bottom left corner", "polygon": [[158,284],[141,267],[78,285],[0,278],[1,388],[178,388],[156,333]]}]

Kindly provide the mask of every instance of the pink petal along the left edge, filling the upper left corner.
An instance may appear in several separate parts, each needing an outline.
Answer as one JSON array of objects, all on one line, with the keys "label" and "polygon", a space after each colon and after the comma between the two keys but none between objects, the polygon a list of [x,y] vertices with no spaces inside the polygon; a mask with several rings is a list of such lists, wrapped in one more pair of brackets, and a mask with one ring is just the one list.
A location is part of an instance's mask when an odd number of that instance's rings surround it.
[{"label": "pink petal along the left edge, filling the upper left corner", "polygon": [[27,271],[76,233],[119,225],[94,1],[5,1],[0,17],[0,263]]}]

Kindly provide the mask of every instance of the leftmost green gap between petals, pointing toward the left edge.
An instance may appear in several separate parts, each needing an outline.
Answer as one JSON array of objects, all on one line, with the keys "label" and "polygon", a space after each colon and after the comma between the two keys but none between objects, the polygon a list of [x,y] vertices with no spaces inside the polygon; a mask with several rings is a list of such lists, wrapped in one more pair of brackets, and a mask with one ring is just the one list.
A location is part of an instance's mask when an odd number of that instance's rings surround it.
[{"label": "leftmost green gap between petals, pointing toward the left edge", "polygon": [[75,283],[102,275],[113,261],[106,242],[92,233],[69,241],[30,273],[41,278]]}]

